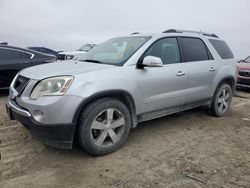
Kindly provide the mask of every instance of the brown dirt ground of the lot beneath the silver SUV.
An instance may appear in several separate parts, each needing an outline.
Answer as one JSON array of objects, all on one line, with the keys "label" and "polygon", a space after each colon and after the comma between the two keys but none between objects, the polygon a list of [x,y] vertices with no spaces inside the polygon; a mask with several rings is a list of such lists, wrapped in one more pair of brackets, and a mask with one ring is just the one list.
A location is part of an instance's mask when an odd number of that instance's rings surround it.
[{"label": "brown dirt ground of the lot beneath the silver SUV", "polygon": [[92,157],[38,142],[8,120],[0,94],[0,187],[250,188],[250,92],[237,95],[226,117],[199,108],[148,121]]}]

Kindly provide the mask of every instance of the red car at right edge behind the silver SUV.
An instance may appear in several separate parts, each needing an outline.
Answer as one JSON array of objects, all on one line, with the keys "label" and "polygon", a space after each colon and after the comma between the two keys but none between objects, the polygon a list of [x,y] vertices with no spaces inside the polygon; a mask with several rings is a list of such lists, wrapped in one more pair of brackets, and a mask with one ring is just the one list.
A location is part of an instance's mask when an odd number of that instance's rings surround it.
[{"label": "red car at right edge behind the silver SUV", "polygon": [[250,56],[238,63],[238,80],[237,86],[250,88]]}]

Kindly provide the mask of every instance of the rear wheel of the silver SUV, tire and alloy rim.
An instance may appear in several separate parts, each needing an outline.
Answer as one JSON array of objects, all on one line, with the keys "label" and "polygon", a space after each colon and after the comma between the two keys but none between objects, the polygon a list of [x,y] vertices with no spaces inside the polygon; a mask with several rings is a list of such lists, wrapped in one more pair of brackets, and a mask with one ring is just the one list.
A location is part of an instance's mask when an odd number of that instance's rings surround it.
[{"label": "rear wheel of the silver SUV, tire and alloy rim", "polygon": [[227,83],[222,83],[217,87],[213,101],[210,107],[210,112],[216,117],[224,116],[231,105],[233,91],[232,87]]}]

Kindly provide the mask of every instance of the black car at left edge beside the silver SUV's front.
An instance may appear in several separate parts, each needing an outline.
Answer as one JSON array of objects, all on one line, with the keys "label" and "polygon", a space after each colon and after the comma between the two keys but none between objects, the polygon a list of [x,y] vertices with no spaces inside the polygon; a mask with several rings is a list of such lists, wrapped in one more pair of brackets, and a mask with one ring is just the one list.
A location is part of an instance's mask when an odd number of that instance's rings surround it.
[{"label": "black car at left edge beside the silver SUV's front", "polygon": [[11,81],[20,70],[55,60],[56,57],[52,55],[0,45],[0,89],[8,89]]}]

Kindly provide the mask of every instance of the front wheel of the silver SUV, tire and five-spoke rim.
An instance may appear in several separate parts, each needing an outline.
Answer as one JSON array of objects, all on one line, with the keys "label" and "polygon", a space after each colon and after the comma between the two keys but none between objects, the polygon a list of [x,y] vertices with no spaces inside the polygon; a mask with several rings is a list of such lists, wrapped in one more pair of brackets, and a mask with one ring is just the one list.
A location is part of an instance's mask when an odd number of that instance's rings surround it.
[{"label": "front wheel of the silver SUV, tire and five-spoke rim", "polygon": [[91,155],[109,154],[124,144],[130,128],[130,112],[121,101],[99,99],[89,104],[80,116],[79,144]]}]

